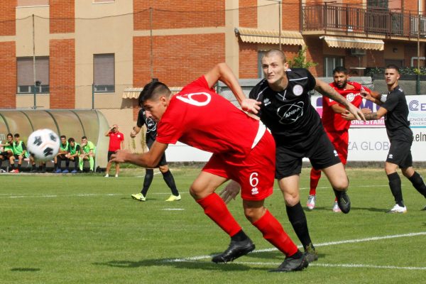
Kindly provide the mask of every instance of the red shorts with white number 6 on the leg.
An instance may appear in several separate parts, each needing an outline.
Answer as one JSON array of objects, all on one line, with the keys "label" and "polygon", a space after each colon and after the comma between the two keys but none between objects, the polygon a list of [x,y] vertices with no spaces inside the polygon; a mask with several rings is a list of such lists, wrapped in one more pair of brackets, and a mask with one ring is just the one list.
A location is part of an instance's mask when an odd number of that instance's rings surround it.
[{"label": "red shorts with white number 6 on the leg", "polygon": [[243,200],[264,200],[273,192],[275,141],[265,131],[246,158],[233,158],[230,153],[213,154],[202,170],[238,182]]}]

